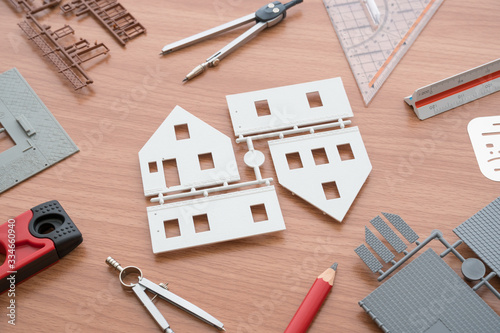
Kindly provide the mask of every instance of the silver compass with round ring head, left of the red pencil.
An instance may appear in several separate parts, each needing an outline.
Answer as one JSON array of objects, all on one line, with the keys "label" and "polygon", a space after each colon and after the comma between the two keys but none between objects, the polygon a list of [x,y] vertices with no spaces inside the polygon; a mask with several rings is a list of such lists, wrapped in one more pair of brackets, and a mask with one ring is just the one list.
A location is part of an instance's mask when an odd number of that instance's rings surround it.
[{"label": "silver compass with round ring head, left of the red pencil", "polygon": [[[170,304],[175,305],[181,310],[186,311],[187,313],[195,316],[196,318],[204,321],[205,323],[212,325],[219,330],[225,331],[224,324],[222,324],[219,320],[215,319],[212,315],[208,314],[206,311],[200,309],[193,303],[186,301],[185,299],[177,296],[168,290],[166,284],[160,283],[159,285],[153,283],[142,276],[142,271],[135,266],[127,266],[122,267],[120,264],[111,257],[106,259],[106,263],[113,267],[114,269],[120,271],[120,283],[123,287],[132,289],[137,298],[142,302],[142,304],[149,311],[153,319],[158,323],[161,327],[162,332],[164,333],[174,333],[170,328],[167,320],[160,313],[158,308],[154,305],[153,300],[156,297],[160,297],[161,299],[169,302]],[[125,283],[123,280],[129,274],[138,275],[137,283]],[[152,293],[154,296],[152,299],[149,298],[146,291]]]}]

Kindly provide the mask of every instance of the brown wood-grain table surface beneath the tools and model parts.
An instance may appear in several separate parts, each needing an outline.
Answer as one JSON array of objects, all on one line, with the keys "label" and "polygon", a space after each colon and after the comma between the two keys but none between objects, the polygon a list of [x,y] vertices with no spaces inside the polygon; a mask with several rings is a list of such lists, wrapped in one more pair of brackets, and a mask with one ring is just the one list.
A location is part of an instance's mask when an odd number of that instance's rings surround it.
[{"label": "brown wood-grain table surface beneath the tools and model parts", "polygon": [[[35,3],[41,1],[36,0]],[[68,2],[68,1],[66,1]],[[77,37],[102,41],[109,56],[86,63],[94,79],[75,92],[28,42],[23,19],[0,1],[0,71],[17,67],[81,151],[0,195],[0,221],[59,200],[84,236],[51,268],[16,289],[16,326],[7,324],[0,295],[0,331],[157,332],[135,296],[124,291],[104,260],[139,266],[144,276],[220,319],[228,332],[282,332],[316,276],[338,262],[331,295],[310,332],[379,332],[358,301],[380,284],[354,253],[364,226],[380,212],[402,216],[426,237],[433,229],[454,242],[452,229],[499,195],[498,183],[479,171],[467,134],[475,117],[499,114],[493,94],[420,121],[403,102],[416,88],[498,58],[500,2],[445,1],[369,107],[320,0],[294,7],[285,21],[227,57],[219,67],[181,84],[185,74],[241,33],[160,57],[167,43],[255,11],[262,1],[122,1],[147,28],[121,47],[91,17],[41,16],[53,28],[70,24]],[[287,229],[216,245],[153,254],[138,152],[175,105],[234,138],[228,94],[341,77],[373,165],[343,223],[323,215],[276,182]],[[266,152],[262,173],[276,174]],[[245,145],[233,147],[242,180]],[[1,156],[0,156],[1,158]],[[443,247],[433,242],[436,252]],[[462,245],[466,256],[473,252]],[[446,258],[460,270],[456,258]],[[500,279],[493,284],[500,288]],[[485,289],[485,288],[484,288]],[[489,291],[482,298],[500,314]],[[216,329],[157,302],[175,332]]]}]

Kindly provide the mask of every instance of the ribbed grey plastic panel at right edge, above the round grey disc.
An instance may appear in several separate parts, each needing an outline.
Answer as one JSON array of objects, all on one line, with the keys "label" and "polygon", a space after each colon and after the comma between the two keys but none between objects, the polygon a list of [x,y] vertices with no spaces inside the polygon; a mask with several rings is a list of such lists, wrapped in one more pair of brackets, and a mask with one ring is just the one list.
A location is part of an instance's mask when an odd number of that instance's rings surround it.
[{"label": "ribbed grey plastic panel at right edge, above the round grey disc", "polygon": [[500,276],[500,197],[453,231]]}]

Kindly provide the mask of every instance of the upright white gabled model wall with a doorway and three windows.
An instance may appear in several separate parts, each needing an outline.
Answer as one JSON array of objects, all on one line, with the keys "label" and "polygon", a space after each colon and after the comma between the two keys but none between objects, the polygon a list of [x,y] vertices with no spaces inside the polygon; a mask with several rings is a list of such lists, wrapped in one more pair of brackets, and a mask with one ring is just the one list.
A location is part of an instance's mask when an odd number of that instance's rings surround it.
[{"label": "upright white gabled model wall with a doorway and three windows", "polygon": [[[180,127],[183,137],[176,135]],[[211,167],[203,168],[203,156],[212,159]],[[180,106],[140,150],[139,160],[146,196],[240,180],[231,139]],[[180,181],[174,186],[165,179],[164,161],[170,160]]]}]

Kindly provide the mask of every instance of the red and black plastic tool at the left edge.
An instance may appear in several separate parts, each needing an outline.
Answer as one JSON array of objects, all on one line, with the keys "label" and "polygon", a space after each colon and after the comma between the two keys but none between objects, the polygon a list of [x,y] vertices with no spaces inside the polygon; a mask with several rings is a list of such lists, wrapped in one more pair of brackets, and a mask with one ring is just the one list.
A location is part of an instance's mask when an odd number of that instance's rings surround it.
[{"label": "red and black plastic tool at the left edge", "polygon": [[[12,231],[13,230],[13,231]],[[83,241],[80,230],[56,201],[31,208],[0,225],[0,293],[56,263]]]}]

